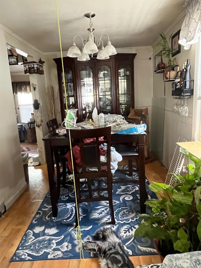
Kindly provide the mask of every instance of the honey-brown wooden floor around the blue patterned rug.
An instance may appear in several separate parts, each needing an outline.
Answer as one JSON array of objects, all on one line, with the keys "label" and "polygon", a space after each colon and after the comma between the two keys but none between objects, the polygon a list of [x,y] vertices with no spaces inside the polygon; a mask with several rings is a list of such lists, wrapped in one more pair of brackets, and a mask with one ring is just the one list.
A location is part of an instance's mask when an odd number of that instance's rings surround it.
[{"label": "honey-brown wooden floor around the blue patterned rug", "polygon": [[[146,176],[150,182],[164,182],[166,169],[157,161],[146,164]],[[24,193],[0,218],[0,267],[1,268],[99,268],[98,259],[42,260],[10,262],[27,227],[44,199],[49,184],[46,164],[29,167],[30,182]],[[160,263],[158,255],[130,257],[134,266]]]}]

